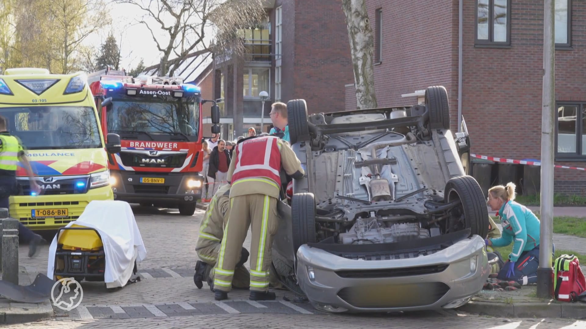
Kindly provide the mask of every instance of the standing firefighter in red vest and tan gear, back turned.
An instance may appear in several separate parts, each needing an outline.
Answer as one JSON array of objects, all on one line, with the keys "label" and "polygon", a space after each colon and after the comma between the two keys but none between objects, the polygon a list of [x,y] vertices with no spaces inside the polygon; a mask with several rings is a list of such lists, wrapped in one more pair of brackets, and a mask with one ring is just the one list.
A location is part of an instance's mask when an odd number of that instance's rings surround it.
[{"label": "standing firefighter in red vest and tan gear, back turned", "polygon": [[269,292],[272,239],[277,233],[277,202],[281,186],[281,169],[300,179],[301,162],[289,143],[275,136],[253,136],[240,140],[228,170],[230,214],[222,247],[214,268],[216,300],[227,299],[234,268],[252,225],[250,244],[250,299],[274,300]]}]

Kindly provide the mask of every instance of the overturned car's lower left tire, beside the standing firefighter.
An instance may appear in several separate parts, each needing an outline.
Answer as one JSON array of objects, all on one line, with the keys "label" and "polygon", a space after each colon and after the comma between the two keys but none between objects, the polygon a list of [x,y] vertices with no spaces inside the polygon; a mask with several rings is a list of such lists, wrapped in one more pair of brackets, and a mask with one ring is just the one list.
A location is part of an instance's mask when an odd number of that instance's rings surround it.
[{"label": "overturned car's lower left tire, beside the standing firefighter", "polygon": [[297,193],[291,198],[291,230],[293,250],[315,242],[315,197],[313,193]]}]

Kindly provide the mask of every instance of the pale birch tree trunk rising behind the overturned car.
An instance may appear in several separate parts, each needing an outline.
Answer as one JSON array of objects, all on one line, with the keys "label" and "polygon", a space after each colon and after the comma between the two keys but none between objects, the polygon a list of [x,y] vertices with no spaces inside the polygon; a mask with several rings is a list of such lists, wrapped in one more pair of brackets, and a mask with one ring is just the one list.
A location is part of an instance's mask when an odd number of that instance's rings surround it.
[{"label": "pale birch tree trunk rising behind the overturned car", "polygon": [[364,0],[342,0],[350,39],[356,88],[356,108],[376,108],[374,92],[374,37]]}]

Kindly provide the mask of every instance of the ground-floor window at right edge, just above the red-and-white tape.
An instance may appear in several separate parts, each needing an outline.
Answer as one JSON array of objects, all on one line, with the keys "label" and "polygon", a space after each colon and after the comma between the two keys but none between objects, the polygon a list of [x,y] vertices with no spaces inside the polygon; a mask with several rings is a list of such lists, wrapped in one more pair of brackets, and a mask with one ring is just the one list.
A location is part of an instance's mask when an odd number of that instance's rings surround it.
[{"label": "ground-floor window at right edge, just above the red-and-white tape", "polygon": [[586,159],[586,102],[558,102],[556,159]]}]

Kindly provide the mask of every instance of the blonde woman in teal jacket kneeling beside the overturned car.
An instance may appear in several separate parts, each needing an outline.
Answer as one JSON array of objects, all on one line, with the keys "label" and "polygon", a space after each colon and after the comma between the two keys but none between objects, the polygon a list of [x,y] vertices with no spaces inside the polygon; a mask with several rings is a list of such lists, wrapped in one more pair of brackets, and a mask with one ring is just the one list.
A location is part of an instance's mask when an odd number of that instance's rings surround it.
[{"label": "blonde woman in teal jacket kneeling beside the overturned car", "polygon": [[502,224],[502,236],[485,239],[488,246],[507,246],[513,242],[513,250],[497,276],[500,280],[513,280],[520,285],[537,283],[539,267],[540,221],[531,210],[515,201],[515,184],[494,186],[488,190],[486,204],[498,210]]}]

